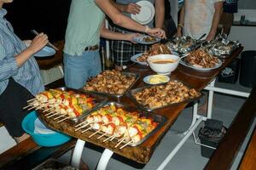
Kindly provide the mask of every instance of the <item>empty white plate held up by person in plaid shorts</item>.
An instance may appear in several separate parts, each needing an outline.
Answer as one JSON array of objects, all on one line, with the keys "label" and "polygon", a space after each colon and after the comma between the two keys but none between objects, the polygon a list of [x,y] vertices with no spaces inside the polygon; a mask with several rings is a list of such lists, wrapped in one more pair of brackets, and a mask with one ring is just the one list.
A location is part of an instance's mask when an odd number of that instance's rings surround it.
[{"label": "empty white plate held up by person in plaid shorts", "polygon": [[131,18],[142,25],[148,24],[154,19],[154,5],[148,1],[137,2],[141,6],[139,14],[131,14]]}]

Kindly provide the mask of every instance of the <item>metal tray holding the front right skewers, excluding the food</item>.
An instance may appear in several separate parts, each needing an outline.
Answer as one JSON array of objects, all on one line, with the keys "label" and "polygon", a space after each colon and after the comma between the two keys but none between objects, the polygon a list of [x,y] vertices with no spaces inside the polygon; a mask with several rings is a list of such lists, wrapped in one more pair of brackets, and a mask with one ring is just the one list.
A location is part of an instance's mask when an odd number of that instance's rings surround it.
[{"label": "metal tray holding the front right skewers, excluding the food", "polygon": [[[139,142],[128,144],[130,146],[137,146],[139,144],[142,144],[150,136],[152,136],[154,133],[156,133],[160,129],[160,127],[162,127],[167,121],[166,116],[161,116],[161,115],[158,115],[157,113],[154,113],[154,112],[143,111],[143,110],[141,110],[137,107],[131,107],[130,105],[120,104],[120,103],[117,103],[117,102],[108,102],[107,104],[102,105],[102,107],[98,108],[98,110],[100,110],[101,108],[103,108],[105,106],[110,106],[110,105],[114,105],[117,109],[121,108],[124,111],[130,111],[130,112],[136,111],[139,114],[139,117],[142,117],[142,116],[151,117],[151,118],[153,118],[154,122],[158,122],[158,126],[155,127],[154,130],[152,130],[150,133],[148,133]],[[89,115],[87,115],[87,116],[89,116]],[[123,142],[123,143],[125,144],[126,142]]]}]

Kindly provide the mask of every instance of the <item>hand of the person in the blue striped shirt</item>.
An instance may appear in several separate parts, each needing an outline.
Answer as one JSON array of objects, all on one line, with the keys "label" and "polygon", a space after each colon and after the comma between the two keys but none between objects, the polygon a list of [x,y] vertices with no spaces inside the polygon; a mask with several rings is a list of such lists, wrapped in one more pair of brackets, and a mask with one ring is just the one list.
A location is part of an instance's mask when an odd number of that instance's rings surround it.
[{"label": "hand of the person in the blue striped shirt", "polygon": [[49,42],[48,37],[43,32],[38,34],[38,36],[34,37],[32,42],[27,47],[28,50],[32,51],[32,54],[36,54],[40,49],[44,48],[44,46]]}]

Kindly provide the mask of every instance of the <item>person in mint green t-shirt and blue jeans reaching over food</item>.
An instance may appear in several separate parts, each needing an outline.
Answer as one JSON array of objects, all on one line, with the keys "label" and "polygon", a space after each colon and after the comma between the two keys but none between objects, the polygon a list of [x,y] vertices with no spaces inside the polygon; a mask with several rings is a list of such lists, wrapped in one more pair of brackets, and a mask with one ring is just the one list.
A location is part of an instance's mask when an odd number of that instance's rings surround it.
[{"label": "person in mint green t-shirt and blue jeans reaching over food", "polygon": [[154,37],[165,36],[160,28],[142,26],[121,14],[109,0],[73,0],[64,45],[64,77],[69,88],[82,88],[88,77],[94,77],[102,71],[100,37],[131,41],[137,36],[137,33],[122,34],[106,29],[104,13],[118,26]]}]

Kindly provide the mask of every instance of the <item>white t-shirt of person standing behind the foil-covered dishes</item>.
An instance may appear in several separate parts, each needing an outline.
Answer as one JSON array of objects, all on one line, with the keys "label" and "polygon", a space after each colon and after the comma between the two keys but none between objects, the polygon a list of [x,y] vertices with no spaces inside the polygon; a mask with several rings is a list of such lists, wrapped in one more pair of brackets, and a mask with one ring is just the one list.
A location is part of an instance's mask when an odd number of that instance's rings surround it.
[{"label": "white t-shirt of person standing behind the foil-covered dishes", "polygon": [[212,27],[212,18],[215,12],[214,3],[222,1],[223,0],[185,0],[183,34],[195,39],[198,39],[205,33],[208,35]]}]

